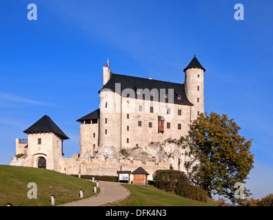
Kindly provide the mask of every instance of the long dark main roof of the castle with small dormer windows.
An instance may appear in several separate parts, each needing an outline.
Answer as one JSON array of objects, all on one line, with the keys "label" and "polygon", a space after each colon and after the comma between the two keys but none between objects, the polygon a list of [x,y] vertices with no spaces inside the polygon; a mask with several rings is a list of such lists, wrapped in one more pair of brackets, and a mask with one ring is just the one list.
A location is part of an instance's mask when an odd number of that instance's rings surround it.
[{"label": "long dark main roof of the castle with small dormer windows", "polygon": [[[120,91],[116,91],[115,84],[120,83],[121,88]],[[126,90],[124,90],[126,89]],[[121,94],[123,96],[127,96],[129,94],[129,90],[134,91],[134,98],[143,98],[145,100],[163,100],[164,102],[175,104],[185,104],[192,106],[193,104],[188,100],[188,97],[185,93],[185,87],[184,84],[180,83],[170,83],[160,80],[153,80],[150,78],[140,78],[135,76],[125,76],[125,75],[119,75],[119,74],[112,74],[110,80],[104,85],[104,87],[100,90],[111,90],[115,91],[118,94]],[[140,95],[136,95],[137,89],[143,89],[144,92],[141,91]],[[149,89],[152,91],[152,89],[156,89],[156,91],[159,91],[159,97],[151,97],[150,94],[148,96],[143,96],[145,94],[144,89]],[[161,89],[165,89],[165,92]],[[170,91],[168,89],[174,89],[174,98],[173,100],[171,98],[165,98],[165,93],[168,94]],[[99,91],[99,92],[100,92]],[[125,92],[126,91],[126,92]],[[169,94],[170,95],[170,94]],[[132,96],[130,94],[130,96]],[[181,96],[181,100],[177,99],[177,96]],[[155,99],[156,98],[156,99]]]}]

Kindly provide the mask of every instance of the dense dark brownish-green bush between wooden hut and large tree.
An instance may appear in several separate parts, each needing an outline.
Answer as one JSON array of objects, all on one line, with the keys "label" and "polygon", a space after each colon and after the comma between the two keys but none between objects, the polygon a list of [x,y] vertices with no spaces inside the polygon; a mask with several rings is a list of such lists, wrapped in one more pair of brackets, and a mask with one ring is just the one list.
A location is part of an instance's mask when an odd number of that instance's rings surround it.
[{"label": "dense dark brownish-green bush between wooden hut and large tree", "polygon": [[205,190],[197,186],[192,186],[188,176],[181,171],[156,170],[153,180],[156,188],[160,188],[166,192],[174,192],[176,195],[188,199],[207,202],[208,197]]}]

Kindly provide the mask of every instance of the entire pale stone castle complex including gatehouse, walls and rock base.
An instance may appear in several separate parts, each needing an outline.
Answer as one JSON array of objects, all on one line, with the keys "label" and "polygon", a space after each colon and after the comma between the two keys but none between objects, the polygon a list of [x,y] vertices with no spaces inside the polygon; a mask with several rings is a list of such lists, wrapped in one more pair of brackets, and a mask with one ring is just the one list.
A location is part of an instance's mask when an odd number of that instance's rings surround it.
[{"label": "entire pale stone castle complex including gatehouse, walls and rock base", "polygon": [[188,150],[166,140],[187,135],[204,112],[205,69],[194,55],[184,72],[184,83],[170,83],[113,74],[107,63],[99,108],[77,120],[79,154],[63,158],[63,140],[69,137],[44,115],[23,131],[28,140],[16,140],[10,165],[85,175],[117,175],[141,166],[149,179],[158,169],[185,170]]}]

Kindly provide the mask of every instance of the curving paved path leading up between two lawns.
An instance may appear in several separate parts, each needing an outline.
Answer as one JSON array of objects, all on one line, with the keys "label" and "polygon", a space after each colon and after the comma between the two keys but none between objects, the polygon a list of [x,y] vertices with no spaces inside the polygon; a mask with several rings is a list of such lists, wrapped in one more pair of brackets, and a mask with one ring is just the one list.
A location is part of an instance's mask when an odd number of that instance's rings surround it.
[{"label": "curving paved path leading up between two lawns", "polygon": [[101,206],[105,203],[118,201],[130,195],[130,192],[117,182],[99,181],[99,188],[101,189],[101,192],[99,192],[98,195],[80,201],[65,203],[61,206]]}]

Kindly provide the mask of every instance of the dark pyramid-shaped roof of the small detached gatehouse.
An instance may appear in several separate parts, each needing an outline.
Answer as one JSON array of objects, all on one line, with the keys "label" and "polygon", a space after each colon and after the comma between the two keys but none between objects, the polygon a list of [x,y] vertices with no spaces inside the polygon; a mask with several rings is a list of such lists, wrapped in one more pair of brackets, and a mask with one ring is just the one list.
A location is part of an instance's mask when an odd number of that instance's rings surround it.
[{"label": "dark pyramid-shaped roof of the small detached gatehouse", "polygon": [[44,115],[43,118],[39,119],[37,122],[32,124],[24,133],[47,133],[52,132],[61,137],[61,139],[66,140],[69,139],[68,136],[61,131],[59,126],[55,124],[48,115]]}]

